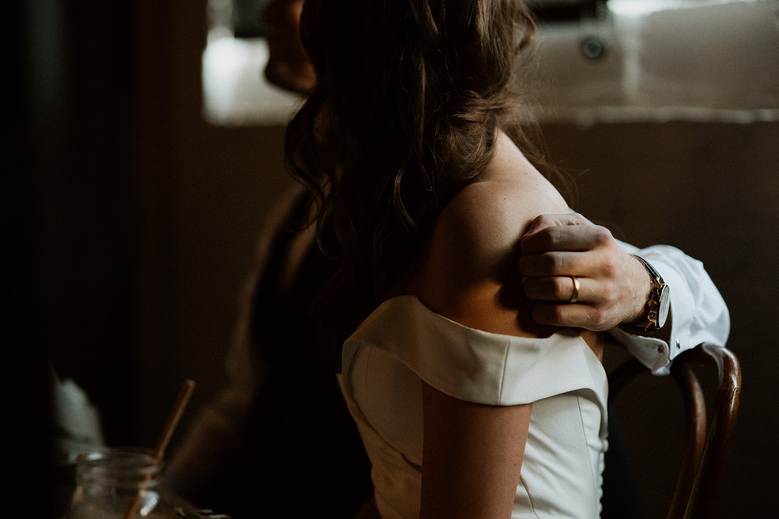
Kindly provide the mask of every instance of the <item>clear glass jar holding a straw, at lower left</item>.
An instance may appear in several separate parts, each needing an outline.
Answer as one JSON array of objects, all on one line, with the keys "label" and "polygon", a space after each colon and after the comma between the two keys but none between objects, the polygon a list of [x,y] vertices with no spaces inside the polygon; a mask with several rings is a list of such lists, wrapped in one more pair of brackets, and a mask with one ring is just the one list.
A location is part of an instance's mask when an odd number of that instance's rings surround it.
[{"label": "clear glass jar holding a straw, at lower left", "polygon": [[76,458],[68,519],[172,519],[162,463],[140,448],[102,448]]}]

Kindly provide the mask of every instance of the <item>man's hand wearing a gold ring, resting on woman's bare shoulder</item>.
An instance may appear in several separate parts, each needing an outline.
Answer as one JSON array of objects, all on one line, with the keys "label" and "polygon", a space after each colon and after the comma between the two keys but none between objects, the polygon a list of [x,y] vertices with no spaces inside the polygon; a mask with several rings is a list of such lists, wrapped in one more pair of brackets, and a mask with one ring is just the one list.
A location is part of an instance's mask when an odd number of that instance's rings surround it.
[{"label": "man's hand wearing a gold ring, resting on woman's bare shoulder", "polygon": [[[576,213],[541,215],[520,240],[517,264],[538,324],[604,331],[636,321],[651,281],[605,227]],[[579,280],[576,303],[570,303]]]}]

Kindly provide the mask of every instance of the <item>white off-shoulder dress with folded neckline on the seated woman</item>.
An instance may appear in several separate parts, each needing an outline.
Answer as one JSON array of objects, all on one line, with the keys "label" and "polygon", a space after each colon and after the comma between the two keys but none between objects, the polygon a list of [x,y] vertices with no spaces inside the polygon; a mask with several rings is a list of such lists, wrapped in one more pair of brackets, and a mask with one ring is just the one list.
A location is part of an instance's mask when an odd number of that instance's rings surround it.
[{"label": "white off-shoulder dress with folded neckline on the seated woman", "polygon": [[416,296],[393,297],[344,343],[338,379],[385,519],[419,517],[421,380],[467,402],[533,402],[511,517],[599,517],[608,383],[573,330],[489,333],[435,314]]}]

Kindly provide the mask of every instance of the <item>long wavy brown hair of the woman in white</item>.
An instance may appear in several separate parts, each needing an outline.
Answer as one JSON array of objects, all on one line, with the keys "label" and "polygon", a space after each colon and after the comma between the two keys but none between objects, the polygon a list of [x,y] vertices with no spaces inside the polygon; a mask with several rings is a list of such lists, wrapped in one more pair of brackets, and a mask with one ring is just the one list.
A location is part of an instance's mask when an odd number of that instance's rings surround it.
[{"label": "long wavy brown hair of the woman in white", "polygon": [[338,356],[413,271],[499,128],[532,150],[516,113],[533,34],[519,0],[306,0],[301,37],[317,82],[285,153],[336,265],[315,311]]}]

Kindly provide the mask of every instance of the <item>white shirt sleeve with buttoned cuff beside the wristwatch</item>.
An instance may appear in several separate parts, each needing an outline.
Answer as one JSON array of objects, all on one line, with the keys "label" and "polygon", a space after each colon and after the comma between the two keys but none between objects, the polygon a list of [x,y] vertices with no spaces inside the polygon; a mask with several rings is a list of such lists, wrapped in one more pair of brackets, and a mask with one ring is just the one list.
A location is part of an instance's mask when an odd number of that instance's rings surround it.
[{"label": "white shirt sleeve with buttoned cuff beside the wristwatch", "polygon": [[650,262],[668,284],[671,294],[670,324],[650,336],[614,328],[610,335],[656,375],[669,373],[679,353],[701,342],[724,346],[730,333],[730,314],[703,263],[668,245],[638,249],[619,242],[629,254]]}]

